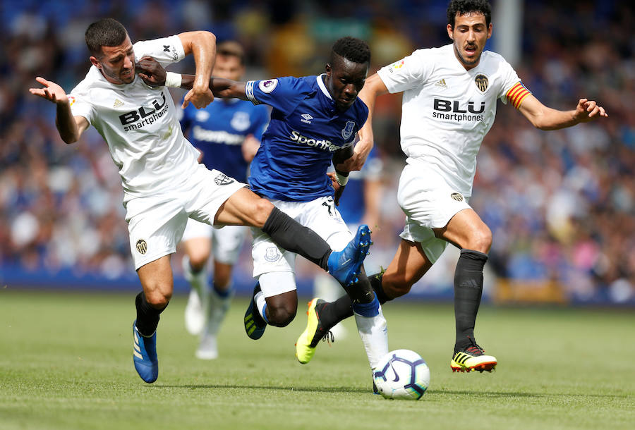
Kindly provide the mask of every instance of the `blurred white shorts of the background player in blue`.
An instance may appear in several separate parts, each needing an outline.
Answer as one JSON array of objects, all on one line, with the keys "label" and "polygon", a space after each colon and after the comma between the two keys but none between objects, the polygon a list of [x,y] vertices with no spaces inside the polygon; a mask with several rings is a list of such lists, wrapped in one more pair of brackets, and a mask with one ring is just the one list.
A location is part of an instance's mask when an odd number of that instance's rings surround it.
[{"label": "blurred white shorts of the background player in blue", "polygon": [[212,253],[214,261],[224,264],[234,265],[238,261],[241,253],[241,245],[248,232],[243,226],[224,226],[215,228],[210,224],[201,223],[195,219],[188,218],[188,223],[183,232],[182,242],[195,238],[206,238],[212,240]]}]

